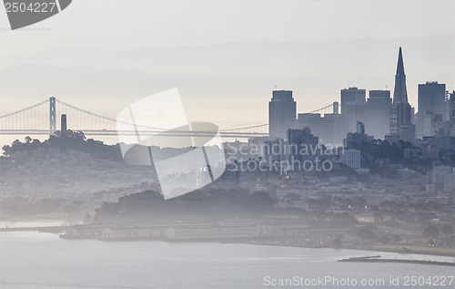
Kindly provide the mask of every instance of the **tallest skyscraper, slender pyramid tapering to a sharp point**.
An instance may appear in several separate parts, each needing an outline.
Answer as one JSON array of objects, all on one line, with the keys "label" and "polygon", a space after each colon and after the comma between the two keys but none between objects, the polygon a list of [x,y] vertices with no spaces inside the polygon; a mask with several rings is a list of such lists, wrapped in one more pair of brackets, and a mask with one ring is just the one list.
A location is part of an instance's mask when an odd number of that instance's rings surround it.
[{"label": "tallest skyscraper, slender pyramid tapering to a sharp point", "polygon": [[411,122],[412,109],[408,102],[406,88],[406,75],[404,73],[403,55],[399,47],[399,59],[397,73],[395,75],[395,88],[393,91],[393,103],[390,109],[390,134],[399,135],[404,141],[414,141],[415,128]]}]

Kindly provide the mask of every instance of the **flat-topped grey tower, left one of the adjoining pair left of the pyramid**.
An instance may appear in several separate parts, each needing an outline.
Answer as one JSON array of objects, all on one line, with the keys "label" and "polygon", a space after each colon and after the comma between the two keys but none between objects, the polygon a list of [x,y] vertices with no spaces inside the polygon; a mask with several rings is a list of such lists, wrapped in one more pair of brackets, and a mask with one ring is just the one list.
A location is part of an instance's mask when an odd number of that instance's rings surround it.
[{"label": "flat-topped grey tower, left one of the adjoining pair left of the pyramid", "polygon": [[348,119],[349,130],[356,129],[358,121],[363,121],[366,116],[365,89],[341,89],[341,114]]}]

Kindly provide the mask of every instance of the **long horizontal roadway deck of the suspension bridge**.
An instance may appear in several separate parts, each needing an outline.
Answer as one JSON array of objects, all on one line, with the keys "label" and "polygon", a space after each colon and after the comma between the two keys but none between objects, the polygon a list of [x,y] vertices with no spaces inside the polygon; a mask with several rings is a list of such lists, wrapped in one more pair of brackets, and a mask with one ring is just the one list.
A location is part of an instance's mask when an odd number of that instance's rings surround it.
[{"label": "long horizontal roadway deck of the suspension bridge", "polygon": [[[214,137],[216,131],[185,131],[185,130],[81,130],[86,136],[168,136],[168,137]],[[268,137],[268,133],[220,131],[224,138],[254,138]],[[0,135],[49,135],[49,129],[0,129]]]}]

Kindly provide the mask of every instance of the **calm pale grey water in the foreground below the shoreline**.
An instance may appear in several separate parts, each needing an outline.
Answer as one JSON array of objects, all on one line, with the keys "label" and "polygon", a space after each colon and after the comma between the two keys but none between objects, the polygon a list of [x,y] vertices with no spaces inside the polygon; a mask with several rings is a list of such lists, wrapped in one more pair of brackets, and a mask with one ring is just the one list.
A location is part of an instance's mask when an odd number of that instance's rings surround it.
[{"label": "calm pale grey water in the foreground below the shoreline", "polygon": [[[271,286],[269,278],[400,278],[454,275],[454,267],[337,263],[344,257],[453,258],[247,244],[60,240],[43,232],[0,232],[0,288],[314,288]],[[454,282],[455,283],[455,282]],[[443,288],[455,288],[455,284]],[[316,286],[333,288],[332,285]],[[358,286],[358,288],[389,288]],[[418,288],[434,288],[430,285]],[[440,287],[440,286],[439,286]],[[344,287],[346,288],[346,287]],[[397,287],[395,287],[397,288]]]}]

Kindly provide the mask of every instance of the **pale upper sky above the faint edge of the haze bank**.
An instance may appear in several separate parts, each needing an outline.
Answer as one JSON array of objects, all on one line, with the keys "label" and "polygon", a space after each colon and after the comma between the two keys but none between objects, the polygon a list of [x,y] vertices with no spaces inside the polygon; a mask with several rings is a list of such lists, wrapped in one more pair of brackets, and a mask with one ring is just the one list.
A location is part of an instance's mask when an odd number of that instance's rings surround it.
[{"label": "pale upper sky above the faint edge of the haze bank", "polygon": [[[454,33],[454,12],[451,0],[75,0],[61,15],[29,30],[3,31],[2,55],[68,47],[432,36]],[[5,10],[0,16],[6,28]]]}]

